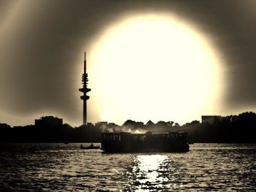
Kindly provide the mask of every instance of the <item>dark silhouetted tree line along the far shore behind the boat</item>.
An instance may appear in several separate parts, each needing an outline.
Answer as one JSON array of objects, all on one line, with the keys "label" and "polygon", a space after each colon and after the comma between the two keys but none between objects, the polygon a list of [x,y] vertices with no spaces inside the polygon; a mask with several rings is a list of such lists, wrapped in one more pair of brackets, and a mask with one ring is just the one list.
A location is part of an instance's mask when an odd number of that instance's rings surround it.
[{"label": "dark silhouetted tree line along the far shore behind the boat", "polygon": [[61,126],[37,127],[15,126],[0,123],[1,142],[101,142],[102,132],[130,131],[135,134],[167,131],[187,131],[189,142],[256,142],[256,113],[243,112],[239,115],[228,115],[214,119],[214,122],[200,123],[193,120],[180,126],[174,121],[160,120],[143,123],[126,120],[123,125],[116,123],[96,123],[88,126],[72,127],[67,123]]}]

